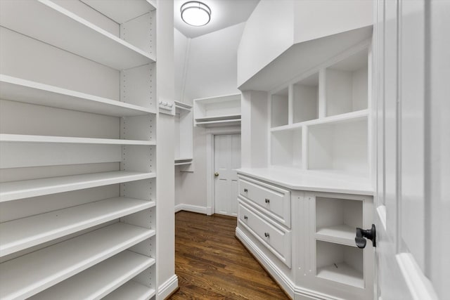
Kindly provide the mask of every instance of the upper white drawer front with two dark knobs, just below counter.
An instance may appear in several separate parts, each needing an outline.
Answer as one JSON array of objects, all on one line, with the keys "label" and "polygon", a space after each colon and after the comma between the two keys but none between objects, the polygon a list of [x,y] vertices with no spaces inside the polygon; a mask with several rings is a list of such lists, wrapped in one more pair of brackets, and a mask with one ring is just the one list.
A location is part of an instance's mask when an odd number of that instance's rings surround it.
[{"label": "upper white drawer front with two dark knobs, just below counter", "polygon": [[250,178],[239,178],[239,193],[290,228],[290,191]]}]

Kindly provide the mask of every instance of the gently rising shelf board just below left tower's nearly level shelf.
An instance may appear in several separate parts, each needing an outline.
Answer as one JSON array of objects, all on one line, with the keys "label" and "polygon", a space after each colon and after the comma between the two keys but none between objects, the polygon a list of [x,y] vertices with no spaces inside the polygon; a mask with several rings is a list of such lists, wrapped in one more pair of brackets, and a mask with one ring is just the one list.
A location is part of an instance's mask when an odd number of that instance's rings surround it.
[{"label": "gently rising shelf board just below left tower's nearly level shelf", "polygon": [[155,178],[154,173],[112,171],[0,183],[0,202]]}]

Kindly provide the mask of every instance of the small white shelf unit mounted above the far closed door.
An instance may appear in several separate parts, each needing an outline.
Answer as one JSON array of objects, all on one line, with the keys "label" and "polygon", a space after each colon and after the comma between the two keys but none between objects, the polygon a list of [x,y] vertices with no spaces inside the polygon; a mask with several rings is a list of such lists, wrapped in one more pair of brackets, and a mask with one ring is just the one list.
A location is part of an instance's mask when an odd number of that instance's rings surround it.
[{"label": "small white shelf unit mounted above the far closed door", "polygon": [[194,99],[195,126],[240,125],[240,93]]}]

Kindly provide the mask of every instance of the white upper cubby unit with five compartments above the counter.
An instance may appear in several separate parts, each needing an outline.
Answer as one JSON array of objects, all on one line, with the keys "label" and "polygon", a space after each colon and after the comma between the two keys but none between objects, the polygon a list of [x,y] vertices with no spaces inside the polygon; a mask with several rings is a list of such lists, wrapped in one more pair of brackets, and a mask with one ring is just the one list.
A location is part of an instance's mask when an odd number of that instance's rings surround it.
[{"label": "white upper cubby unit with five compartments above the counter", "polygon": [[368,43],[271,93],[269,165],[370,181]]}]

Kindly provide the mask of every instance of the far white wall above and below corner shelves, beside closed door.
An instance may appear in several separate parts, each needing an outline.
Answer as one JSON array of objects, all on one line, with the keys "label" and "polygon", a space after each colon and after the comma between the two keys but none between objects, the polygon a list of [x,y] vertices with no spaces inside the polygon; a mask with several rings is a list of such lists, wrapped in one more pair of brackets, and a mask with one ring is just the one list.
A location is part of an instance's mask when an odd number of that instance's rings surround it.
[{"label": "far white wall above and below corner shelves, beside closed door", "polygon": [[[185,77],[176,74],[176,92],[184,81],[184,103],[195,98],[239,93],[237,89],[237,49],[245,23],[233,25],[217,32],[187,39],[175,32],[175,53],[186,51]],[[175,72],[184,68],[181,59],[175,58]],[[175,204],[206,207],[206,131],[194,127],[193,172],[176,170]]]}]

